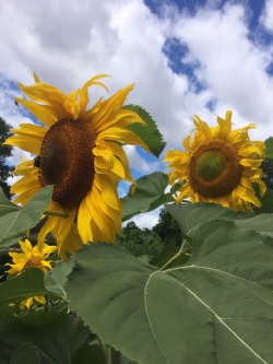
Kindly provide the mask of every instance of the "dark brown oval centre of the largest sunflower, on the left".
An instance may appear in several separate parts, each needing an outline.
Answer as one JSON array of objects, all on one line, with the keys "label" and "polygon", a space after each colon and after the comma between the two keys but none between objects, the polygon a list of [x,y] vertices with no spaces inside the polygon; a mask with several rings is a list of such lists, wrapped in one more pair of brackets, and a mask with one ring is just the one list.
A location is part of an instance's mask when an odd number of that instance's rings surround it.
[{"label": "dark brown oval centre of the largest sunflower, on the left", "polygon": [[54,185],[52,200],[63,209],[79,207],[92,187],[95,139],[87,124],[70,118],[58,120],[44,138],[34,165],[40,184]]}]

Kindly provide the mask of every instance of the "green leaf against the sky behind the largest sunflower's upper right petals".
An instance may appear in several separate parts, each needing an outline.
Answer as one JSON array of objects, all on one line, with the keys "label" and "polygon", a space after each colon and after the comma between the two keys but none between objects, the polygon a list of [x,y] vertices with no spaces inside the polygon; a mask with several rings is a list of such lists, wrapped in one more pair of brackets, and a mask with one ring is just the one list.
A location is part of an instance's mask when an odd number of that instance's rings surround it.
[{"label": "green leaf against the sky behind the largest sunflower's upper right petals", "polygon": [[163,141],[163,136],[157,129],[156,122],[153,120],[151,115],[141,106],[124,105],[123,108],[139,114],[139,116],[146,122],[145,127],[135,122],[130,125],[128,129],[135,132],[149,146],[150,151],[158,157],[164,150],[166,143]]}]

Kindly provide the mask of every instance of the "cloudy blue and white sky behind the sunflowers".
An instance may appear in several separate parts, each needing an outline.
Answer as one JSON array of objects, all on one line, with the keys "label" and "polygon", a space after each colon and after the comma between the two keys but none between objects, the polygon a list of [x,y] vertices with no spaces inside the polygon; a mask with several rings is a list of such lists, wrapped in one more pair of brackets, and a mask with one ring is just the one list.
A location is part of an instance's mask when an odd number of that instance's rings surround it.
[{"label": "cloudy blue and white sky behind the sunflowers", "polygon": [[[166,171],[194,114],[215,126],[230,109],[235,128],[257,125],[252,139],[273,136],[273,0],[1,0],[0,55],[0,116],[12,127],[34,122],[14,105],[34,71],[63,92],[98,73],[111,75],[110,94],[135,83],[127,103],[144,107],[167,143],[158,160],[126,146],[135,177]],[[151,227],[157,215],[134,221]]]}]

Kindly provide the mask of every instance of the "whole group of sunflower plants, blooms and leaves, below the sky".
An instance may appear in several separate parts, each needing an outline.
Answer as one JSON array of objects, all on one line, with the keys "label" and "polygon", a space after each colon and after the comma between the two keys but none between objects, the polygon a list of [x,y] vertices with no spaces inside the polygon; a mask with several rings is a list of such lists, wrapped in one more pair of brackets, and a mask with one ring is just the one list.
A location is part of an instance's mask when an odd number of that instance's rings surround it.
[{"label": "whole group of sunflower plants, blooms and leaves, below the sky", "polygon": [[[214,127],[194,115],[165,152],[153,117],[126,104],[134,85],[104,99],[105,77],[69,94],[37,74],[19,84],[37,121],[3,143],[33,157],[12,200],[0,190],[0,364],[273,363],[273,138],[251,140],[254,124],[227,110]],[[166,171],[134,180],[126,144]],[[161,207],[179,244],[138,257],[118,244]]]}]

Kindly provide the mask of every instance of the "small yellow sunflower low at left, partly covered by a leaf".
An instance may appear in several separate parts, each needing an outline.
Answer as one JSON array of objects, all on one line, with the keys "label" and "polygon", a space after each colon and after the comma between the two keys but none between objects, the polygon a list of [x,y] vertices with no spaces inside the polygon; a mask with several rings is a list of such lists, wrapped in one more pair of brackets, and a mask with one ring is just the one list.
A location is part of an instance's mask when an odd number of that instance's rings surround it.
[{"label": "small yellow sunflower low at left, partly covered by a leaf", "polygon": [[[56,246],[49,246],[44,244],[43,249],[39,250],[37,246],[32,246],[29,240],[19,242],[21,250],[23,253],[9,253],[13,263],[7,263],[11,268],[8,270],[9,274],[21,274],[27,268],[38,268],[46,273],[51,269],[51,260],[48,260],[50,254],[57,250]],[[24,309],[25,307],[29,309],[34,302],[39,304],[46,304],[45,296],[35,296],[24,300],[20,304],[20,308]]]}]

